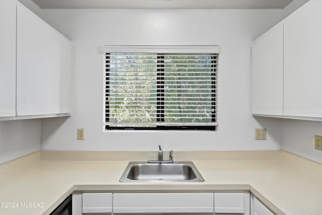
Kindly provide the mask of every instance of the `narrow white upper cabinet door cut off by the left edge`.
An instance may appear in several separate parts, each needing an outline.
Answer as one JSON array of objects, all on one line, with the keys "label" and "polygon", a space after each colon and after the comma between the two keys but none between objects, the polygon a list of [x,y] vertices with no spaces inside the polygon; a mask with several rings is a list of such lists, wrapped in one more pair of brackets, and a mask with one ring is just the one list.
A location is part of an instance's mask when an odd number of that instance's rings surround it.
[{"label": "narrow white upper cabinet door cut off by the left edge", "polygon": [[16,3],[0,1],[0,117],[16,116]]}]

